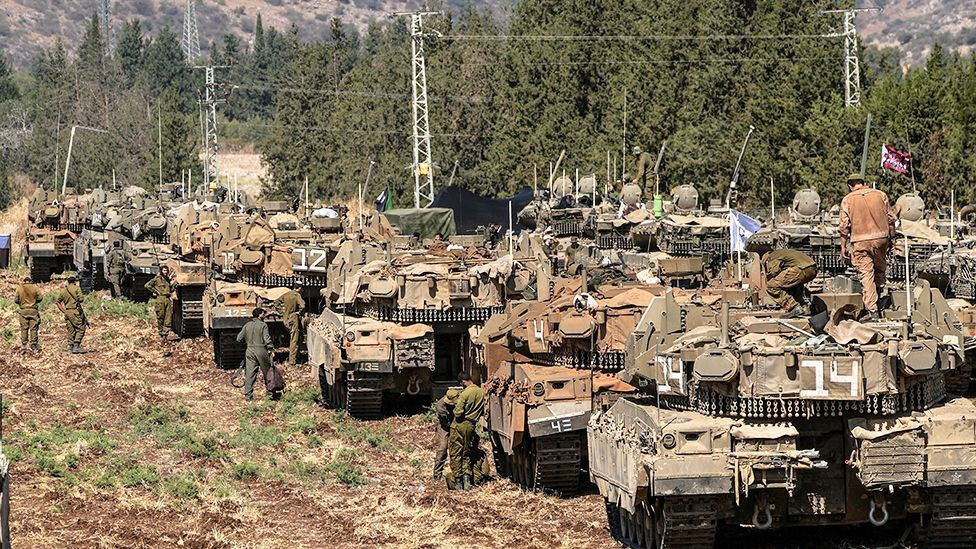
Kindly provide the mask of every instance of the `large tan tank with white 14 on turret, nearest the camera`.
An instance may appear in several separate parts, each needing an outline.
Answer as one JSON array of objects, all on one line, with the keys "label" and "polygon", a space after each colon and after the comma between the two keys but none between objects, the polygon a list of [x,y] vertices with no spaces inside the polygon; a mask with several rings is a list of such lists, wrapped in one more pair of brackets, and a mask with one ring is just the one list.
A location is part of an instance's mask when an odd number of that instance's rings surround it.
[{"label": "large tan tank with white 14 on turret, nearest the camera", "polygon": [[[829,287],[830,285],[828,285]],[[754,300],[651,300],[620,398],[588,426],[614,537],[711,548],[720,526],[915,525],[924,549],[976,542],[976,405],[947,400],[962,333],[938,290],[818,294],[813,319]]]}]

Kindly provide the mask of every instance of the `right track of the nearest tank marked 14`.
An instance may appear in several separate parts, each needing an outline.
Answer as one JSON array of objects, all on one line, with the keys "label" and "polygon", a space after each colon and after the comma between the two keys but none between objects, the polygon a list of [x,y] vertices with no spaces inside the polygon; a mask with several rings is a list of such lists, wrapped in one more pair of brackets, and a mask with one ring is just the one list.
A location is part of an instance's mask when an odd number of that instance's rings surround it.
[{"label": "right track of the nearest tank marked 14", "polygon": [[932,516],[922,542],[925,549],[976,547],[976,487],[932,489]]}]

